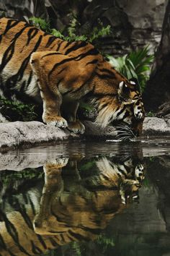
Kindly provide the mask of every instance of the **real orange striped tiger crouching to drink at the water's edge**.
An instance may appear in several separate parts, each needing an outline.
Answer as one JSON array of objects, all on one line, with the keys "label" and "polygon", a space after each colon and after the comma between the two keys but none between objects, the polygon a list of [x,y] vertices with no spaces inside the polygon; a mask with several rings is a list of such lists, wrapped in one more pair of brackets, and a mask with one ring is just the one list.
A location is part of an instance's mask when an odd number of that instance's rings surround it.
[{"label": "real orange striped tiger crouching to drink at the water's edge", "polygon": [[122,76],[91,43],[66,41],[27,22],[0,19],[0,95],[36,102],[42,121],[83,134],[79,102],[97,107],[96,122],[129,125],[141,135],[145,110],[134,81]]}]

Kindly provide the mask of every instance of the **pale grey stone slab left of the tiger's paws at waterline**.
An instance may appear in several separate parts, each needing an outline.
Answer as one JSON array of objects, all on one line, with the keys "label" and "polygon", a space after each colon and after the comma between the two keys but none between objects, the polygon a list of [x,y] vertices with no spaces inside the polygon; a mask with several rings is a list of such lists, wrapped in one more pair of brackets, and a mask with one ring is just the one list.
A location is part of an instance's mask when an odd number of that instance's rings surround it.
[{"label": "pale grey stone slab left of the tiger's paws at waterline", "polygon": [[0,124],[0,148],[18,147],[68,139],[69,133],[39,121],[14,121]]}]

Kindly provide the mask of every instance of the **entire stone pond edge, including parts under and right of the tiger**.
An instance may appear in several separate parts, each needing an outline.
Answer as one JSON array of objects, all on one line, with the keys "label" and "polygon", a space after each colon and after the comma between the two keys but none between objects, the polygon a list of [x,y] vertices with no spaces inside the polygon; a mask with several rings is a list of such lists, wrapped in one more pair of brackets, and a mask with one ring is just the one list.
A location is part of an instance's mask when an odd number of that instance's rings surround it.
[{"label": "entire stone pond edge, including parts under and right of the tiger", "polygon": [[[170,135],[169,120],[158,117],[146,117],[143,123],[144,136]],[[115,139],[115,127],[102,129],[91,121],[84,121],[86,127],[85,137],[100,137]],[[83,137],[84,137],[83,135]],[[14,121],[0,124],[0,149],[18,148],[21,145],[40,145],[42,143],[68,140],[79,137],[68,130],[48,126],[39,121]]]}]

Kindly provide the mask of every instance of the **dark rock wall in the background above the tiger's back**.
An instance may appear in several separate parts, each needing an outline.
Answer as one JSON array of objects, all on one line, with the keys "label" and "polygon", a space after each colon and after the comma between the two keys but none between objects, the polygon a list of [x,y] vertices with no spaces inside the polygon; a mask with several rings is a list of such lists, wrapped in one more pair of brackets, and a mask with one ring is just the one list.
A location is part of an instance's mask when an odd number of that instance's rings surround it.
[{"label": "dark rock wall in the background above the tiger's back", "polygon": [[50,20],[53,27],[65,30],[73,12],[86,33],[100,19],[112,26],[112,35],[102,38],[100,48],[115,56],[137,46],[151,45],[155,51],[161,39],[161,26],[167,0],[0,0],[0,14],[27,20],[35,15]]}]

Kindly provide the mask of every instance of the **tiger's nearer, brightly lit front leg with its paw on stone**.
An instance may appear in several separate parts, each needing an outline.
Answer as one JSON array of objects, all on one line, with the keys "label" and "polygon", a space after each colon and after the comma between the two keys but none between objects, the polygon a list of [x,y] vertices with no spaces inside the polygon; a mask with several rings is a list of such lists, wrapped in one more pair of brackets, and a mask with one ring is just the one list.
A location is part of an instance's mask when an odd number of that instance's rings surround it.
[{"label": "tiger's nearer, brightly lit front leg with its paw on stone", "polygon": [[45,124],[50,124],[55,127],[66,128],[68,123],[66,119],[61,116],[62,96],[56,85],[48,78],[47,69],[44,63],[41,63],[41,54],[32,54],[30,63],[32,70],[37,77],[37,85],[40,88],[40,95],[43,102],[42,120]]}]

